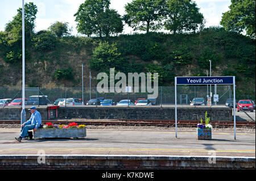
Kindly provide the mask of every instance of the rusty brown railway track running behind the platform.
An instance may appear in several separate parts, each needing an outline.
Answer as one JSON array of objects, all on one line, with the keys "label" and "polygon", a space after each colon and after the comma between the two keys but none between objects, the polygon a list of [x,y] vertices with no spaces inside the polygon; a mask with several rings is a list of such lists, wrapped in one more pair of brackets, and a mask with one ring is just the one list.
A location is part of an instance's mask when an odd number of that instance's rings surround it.
[{"label": "rusty brown railway track running behind the platform", "polygon": [[[51,122],[53,124],[69,124],[75,121],[77,124],[85,125],[134,125],[134,126],[159,126],[159,127],[173,127],[175,126],[175,120],[131,120],[131,119],[120,119],[120,120],[48,120],[42,121],[43,124]],[[195,120],[178,120],[177,125],[182,127],[196,127],[200,121]],[[0,120],[0,124],[20,124],[18,120]],[[211,121],[210,124],[213,127],[234,127],[233,121]],[[255,127],[253,121],[236,121],[236,127]]]}]

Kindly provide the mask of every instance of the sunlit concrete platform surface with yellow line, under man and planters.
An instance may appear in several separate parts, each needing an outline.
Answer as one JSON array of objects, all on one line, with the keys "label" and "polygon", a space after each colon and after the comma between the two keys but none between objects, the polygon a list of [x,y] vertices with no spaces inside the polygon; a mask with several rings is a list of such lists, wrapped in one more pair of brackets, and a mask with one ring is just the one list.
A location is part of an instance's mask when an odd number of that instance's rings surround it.
[{"label": "sunlit concrete platform surface with yellow line, under man and planters", "polygon": [[255,132],[212,132],[196,140],[196,131],[86,129],[85,138],[34,138],[18,142],[20,129],[0,129],[0,155],[186,155],[254,157]]}]

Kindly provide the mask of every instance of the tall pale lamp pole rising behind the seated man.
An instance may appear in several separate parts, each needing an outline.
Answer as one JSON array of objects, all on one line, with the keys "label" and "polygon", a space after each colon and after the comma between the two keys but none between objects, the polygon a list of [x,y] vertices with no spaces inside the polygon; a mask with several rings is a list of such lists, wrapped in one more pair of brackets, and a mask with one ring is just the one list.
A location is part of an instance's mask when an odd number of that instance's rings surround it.
[{"label": "tall pale lamp pole rising behind the seated man", "polygon": [[25,111],[25,23],[24,23],[24,0],[22,0],[22,112],[21,124],[26,121]]}]

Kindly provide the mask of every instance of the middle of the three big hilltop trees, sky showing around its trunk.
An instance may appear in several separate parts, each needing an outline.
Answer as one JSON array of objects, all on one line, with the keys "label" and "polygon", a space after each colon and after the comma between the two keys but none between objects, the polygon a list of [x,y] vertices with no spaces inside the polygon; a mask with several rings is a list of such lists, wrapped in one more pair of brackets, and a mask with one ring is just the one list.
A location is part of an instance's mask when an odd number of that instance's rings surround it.
[{"label": "middle of the three big hilltop trees, sky showing around its trunk", "polygon": [[162,28],[164,0],[134,0],[125,6],[125,23],[134,30],[147,31]]}]

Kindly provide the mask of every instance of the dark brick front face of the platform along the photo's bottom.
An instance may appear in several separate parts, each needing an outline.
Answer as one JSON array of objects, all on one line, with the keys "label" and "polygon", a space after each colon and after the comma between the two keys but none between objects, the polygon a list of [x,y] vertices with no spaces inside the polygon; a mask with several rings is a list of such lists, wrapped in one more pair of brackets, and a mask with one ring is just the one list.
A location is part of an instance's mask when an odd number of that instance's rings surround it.
[{"label": "dark brick front face of the platform along the photo's bottom", "polygon": [[[42,157],[44,157],[44,159]],[[183,157],[166,155],[0,155],[0,170],[255,169],[255,157],[214,157],[214,159],[214,163],[210,163],[208,157],[197,156]]]}]

